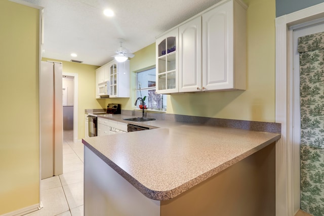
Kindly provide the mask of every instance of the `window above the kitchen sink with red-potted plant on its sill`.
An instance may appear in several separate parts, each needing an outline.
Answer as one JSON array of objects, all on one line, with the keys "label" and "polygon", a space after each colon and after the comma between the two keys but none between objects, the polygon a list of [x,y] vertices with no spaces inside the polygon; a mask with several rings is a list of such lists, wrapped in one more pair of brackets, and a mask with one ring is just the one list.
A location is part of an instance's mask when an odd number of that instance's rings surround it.
[{"label": "window above the kitchen sink with red-potted plant on its sill", "polygon": [[[165,95],[155,94],[155,67],[137,72],[136,74],[136,96],[145,98],[146,108],[149,110],[167,110],[167,97]],[[136,107],[139,108],[138,101]]]}]

